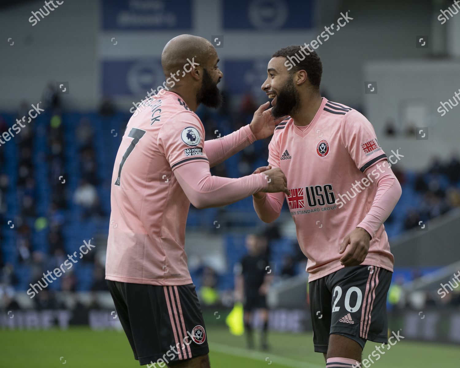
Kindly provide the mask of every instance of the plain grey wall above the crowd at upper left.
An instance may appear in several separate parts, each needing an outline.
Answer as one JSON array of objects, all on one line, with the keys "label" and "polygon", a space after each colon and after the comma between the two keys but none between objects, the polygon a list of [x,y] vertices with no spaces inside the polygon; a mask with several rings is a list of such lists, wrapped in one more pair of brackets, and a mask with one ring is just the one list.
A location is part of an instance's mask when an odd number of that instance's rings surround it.
[{"label": "plain grey wall above the crowd at upper left", "polygon": [[[32,26],[31,11],[42,6],[44,1],[33,1],[0,12],[0,109],[15,111],[23,99],[36,104],[49,81],[69,82],[70,93],[62,95],[64,104],[94,108],[99,102],[98,1],[64,0]],[[12,46],[7,42],[10,37]]]}]

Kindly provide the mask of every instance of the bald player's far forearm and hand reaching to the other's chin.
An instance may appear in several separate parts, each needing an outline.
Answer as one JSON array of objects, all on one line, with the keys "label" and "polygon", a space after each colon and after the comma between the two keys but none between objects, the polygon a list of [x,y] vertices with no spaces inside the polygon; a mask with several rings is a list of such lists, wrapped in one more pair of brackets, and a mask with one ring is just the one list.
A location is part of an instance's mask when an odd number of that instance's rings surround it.
[{"label": "bald player's far forearm and hand reaching to the other's chin", "polygon": [[273,119],[271,109],[265,110],[268,106],[269,102],[266,102],[256,110],[251,124],[225,137],[205,141],[204,148],[210,167],[225,161],[254,141],[268,138],[273,134],[276,124],[282,121],[284,117]]}]

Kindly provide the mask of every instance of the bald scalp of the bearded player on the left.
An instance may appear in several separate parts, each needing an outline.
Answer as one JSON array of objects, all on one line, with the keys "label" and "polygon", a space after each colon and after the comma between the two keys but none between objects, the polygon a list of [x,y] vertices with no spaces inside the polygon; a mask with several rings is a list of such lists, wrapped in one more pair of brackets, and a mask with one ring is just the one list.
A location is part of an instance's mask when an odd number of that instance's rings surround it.
[{"label": "bald scalp of the bearded player on the left", "polygon": [[206,68],[208,64],[215,63],[217,52],[213,44],[203,37],[194,35],[179,35],[170,40],[161,53],[161,66],[165,76],[182,70],[184,65],[189,63],[188,59],[195,58],[195,63],[199,63]]}]

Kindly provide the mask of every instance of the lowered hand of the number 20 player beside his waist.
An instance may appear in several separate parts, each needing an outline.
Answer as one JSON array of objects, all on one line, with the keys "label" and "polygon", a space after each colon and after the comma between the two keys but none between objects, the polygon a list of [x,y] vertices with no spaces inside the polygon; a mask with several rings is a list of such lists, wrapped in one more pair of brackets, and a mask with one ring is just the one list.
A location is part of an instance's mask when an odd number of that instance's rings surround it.
[{"label": "lowered hand of the number 20 player beside his waist", "polygon": [[340,263],[345,267],[361,265],[368,255],[370,240],[371,236],[362,227],[351,231],[340,244],[339,253],[342,254],[346,250]]}]

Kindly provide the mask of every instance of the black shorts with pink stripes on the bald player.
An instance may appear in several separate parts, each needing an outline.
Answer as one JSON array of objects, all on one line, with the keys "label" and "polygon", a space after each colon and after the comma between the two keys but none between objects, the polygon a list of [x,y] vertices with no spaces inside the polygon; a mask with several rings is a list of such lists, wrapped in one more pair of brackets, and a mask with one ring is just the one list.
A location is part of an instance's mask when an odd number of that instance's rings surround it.
[{"label": "black shorts with pink stripes on the bald player", "polygon": [[209,352],[195,285],[107,283],[140,365],[173,366]]}]

